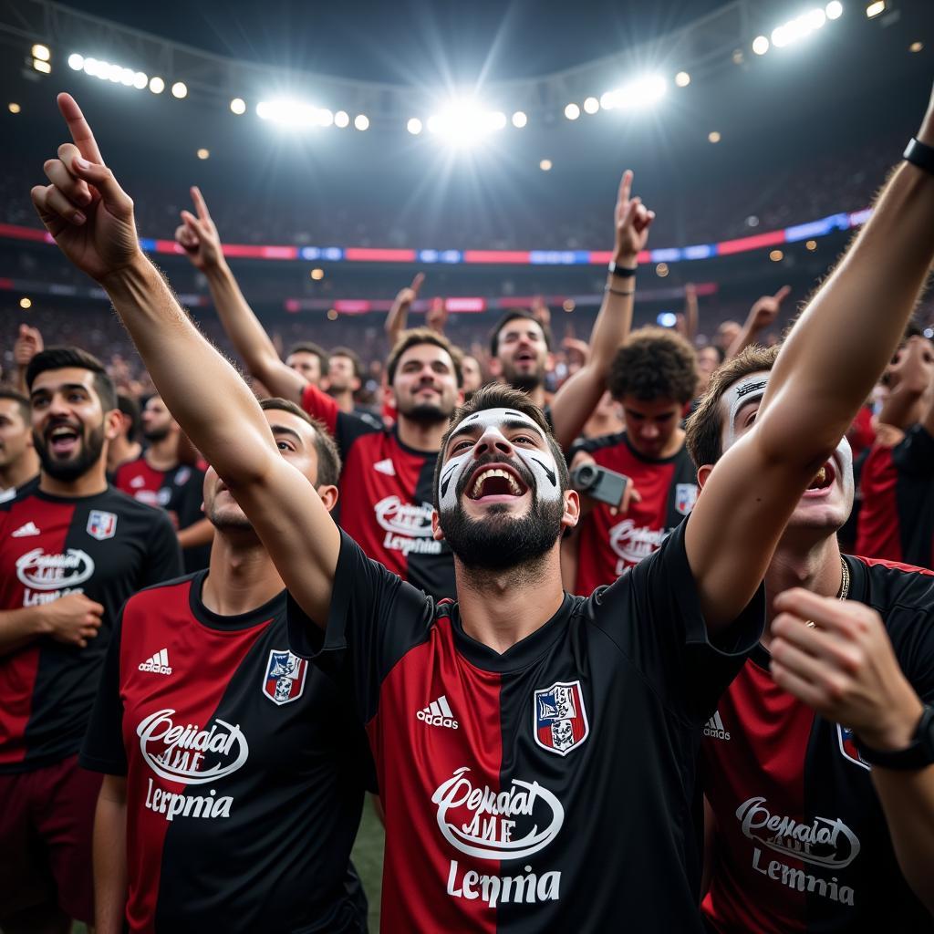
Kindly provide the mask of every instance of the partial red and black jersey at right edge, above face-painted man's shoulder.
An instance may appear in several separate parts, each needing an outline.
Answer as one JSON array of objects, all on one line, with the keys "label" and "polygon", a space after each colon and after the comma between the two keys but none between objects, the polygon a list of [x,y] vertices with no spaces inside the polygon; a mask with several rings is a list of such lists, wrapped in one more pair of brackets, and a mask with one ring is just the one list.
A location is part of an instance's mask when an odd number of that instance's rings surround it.
[{"label": "partial red and black jersey at right edge, above face-painted man's shoulder", "polygon": [[895,446],[877,441],[863,464],[856,551],[934,568],[934,438],[922,425]]}]

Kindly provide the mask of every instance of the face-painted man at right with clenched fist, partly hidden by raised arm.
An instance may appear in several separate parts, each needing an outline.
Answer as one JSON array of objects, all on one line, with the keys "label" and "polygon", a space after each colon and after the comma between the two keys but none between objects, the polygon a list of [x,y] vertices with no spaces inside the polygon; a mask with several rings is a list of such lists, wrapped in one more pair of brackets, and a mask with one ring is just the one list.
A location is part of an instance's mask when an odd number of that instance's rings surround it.
[{"label": "face-painted man at right with clenched fist, partly hidden by raised arm", "polygon": [[[687,423],[701,486],[752,430],[777,356],[749,347],[713,375]],[[703,728],[702,909],[721,934],[934,930],[934,765],[896,771],[871,751],[909,746],[934,702],[934,575],[841,554],[853,493],[844,437],[775,549],[760,644]],[[807,613],[820,610],[815,597],[830,603],[842,626],[828,622],[821,643],[779,621],[786,591]]]}]

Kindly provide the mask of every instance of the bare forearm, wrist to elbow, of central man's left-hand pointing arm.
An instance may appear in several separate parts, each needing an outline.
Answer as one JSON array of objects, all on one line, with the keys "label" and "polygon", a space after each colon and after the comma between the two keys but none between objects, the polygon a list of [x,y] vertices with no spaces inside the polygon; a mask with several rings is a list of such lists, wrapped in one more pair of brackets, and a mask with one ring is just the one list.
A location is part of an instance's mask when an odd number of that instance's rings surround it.
[{"label": "bare forearm, wrist to elbow, of central man's left-hand pointing arm", "polygon": [[228,483],[278,457],[248,386],[191,322],[149,260],[101,283],[182,430]]}]

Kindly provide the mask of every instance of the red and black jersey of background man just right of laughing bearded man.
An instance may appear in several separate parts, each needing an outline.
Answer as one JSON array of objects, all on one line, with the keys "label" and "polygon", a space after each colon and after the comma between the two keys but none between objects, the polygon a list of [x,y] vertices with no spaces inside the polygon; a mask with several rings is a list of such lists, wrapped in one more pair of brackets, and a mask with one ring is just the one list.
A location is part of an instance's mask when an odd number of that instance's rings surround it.
[{"label": "red and black jersey of background man just right of laughing bearded man", "polygon": [[[177,464],[172,470],[155,470],[146,455],[120,464],[114,474],[114,486],[134,500],[150,506],[161,506],[172,518],[177,529],[187,529],[205,517],[204,502],[206,467]],[[183,553],[188,573],[207,567],[210,545],[186,548]]]}]

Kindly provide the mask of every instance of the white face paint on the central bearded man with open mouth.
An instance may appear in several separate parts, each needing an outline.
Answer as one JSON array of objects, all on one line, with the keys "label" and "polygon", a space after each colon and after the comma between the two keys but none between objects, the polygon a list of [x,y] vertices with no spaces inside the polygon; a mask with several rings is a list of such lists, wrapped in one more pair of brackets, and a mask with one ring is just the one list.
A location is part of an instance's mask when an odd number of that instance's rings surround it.
[{"label": "white face paint on the central bearded man with open mouth", "polygon": [[[503,433],[503,430],[510,431],[513,426],[517,426],[519,423],[521,423],[523,430],[533,432],[537,437],[541,438],[545,444],[545,449],[535,448],[530,450],[527,447],[514,446],[513,450],[534,477],[534,489],[538,494],[538,498],[543,501],[559,500],[561,498],[561,484],[558,464],[551,453],[551,446],[547,443],[545,432],[530,417],[517,412],[515,409],[484,409],[466,417],[458,425],[457,431],[460,432],[461,429],[465,428],[479,429],[480,434],[477,437],[482,437],[484,434],[492,434],[494,437],[498,435],[507,444],[512,444]],[[445,461],[445,465],[438,477],[438,505],[441,512],[457,506],[457,491],[460,482],[465,473],[470,473],[473,470],[473,445],[465,447],[455,457]]]}]

